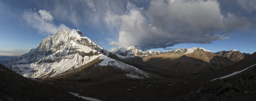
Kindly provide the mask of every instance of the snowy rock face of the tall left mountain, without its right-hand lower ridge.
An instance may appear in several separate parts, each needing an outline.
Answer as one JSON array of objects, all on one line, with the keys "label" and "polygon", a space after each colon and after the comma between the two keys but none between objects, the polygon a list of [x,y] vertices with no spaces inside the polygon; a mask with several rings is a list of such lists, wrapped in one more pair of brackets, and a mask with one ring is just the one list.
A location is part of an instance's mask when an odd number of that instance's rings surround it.
[{"label": "snowy rock face of the tall left mountain, without its right-hand lower ridge", "polygon": [[[29,70],[16,70],[17,73],[25,77],[36,78],[51,71],[55,71],[52,75],[55,76],[71,67],[77,68],[103,56],[100,53],[102,51],[104,51],[102,47],[95,44],[88,37],[83,36],[81,31],[60,29],[54,35],[45,37],[29,53],[5,65],[19,68],[26,66]],[[31,72],[33,70],[38,72]]]}]

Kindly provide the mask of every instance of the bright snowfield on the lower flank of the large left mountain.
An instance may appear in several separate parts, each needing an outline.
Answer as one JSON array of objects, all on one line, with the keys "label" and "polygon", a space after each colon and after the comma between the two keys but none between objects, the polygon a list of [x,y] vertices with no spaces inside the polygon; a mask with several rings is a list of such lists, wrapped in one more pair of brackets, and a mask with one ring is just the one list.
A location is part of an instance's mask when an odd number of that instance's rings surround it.
[{"label": "bright snowfield on the lower flank of the large left mountain", "polygon": [[[50,77],[54,77],[62,72],[65,72],[66,70],[70,69],[71,67],[77,68],[80,67],[84,64],[87,64],[88,62],[96,59],[99,57],[99,55],[93,55],[91,57],[85,56],[82,57],[78,54],[75,55],[67,55],[63,56],[63,59],[60,59],[60,61],[56,61],[56,57],[54,55],[48,55],[48,57],[45,57],[41,59],[40,61],[45,61],[48,59],[55,59],[52,60],[54,62],[49,62],[49,63],[39,63],[35,62],[32,64],[20,64],[20,65],[15,65],[12,66],[13,68],[19,68],[19,72],[17,72],[20,75],[23,75],[24,77],[29,77],[29,78],[38,78],[42,77],[45,75],[48,75],[50,72],[55,72],[53,73]],[[84,60],[84,61],[82,61]],[[14,69],[12,69],[14,70]],[[14,70],[15,71],[15,70]],[[32,72],[34,71],[34,72]]]}]

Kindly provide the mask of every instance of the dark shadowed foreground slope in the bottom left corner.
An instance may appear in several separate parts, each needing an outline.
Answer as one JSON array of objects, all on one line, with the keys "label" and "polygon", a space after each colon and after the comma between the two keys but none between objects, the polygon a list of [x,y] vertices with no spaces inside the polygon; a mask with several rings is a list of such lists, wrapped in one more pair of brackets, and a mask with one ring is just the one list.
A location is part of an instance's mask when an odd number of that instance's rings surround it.
[{"label": "dark shadowed foreground slope in the bottom left corner", "polygon": [[0,101],[84,101],[53,84],[27,79],[0,64]]}]

